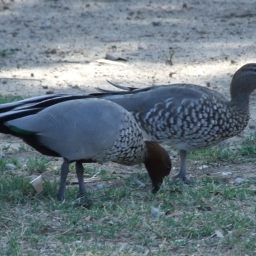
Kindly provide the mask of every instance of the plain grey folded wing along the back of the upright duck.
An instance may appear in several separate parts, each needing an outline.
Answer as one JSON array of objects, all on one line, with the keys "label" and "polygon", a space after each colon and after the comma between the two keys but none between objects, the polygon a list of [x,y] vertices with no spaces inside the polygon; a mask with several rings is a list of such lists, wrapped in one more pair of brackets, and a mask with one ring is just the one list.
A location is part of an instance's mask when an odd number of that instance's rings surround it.
[{"label": "plain grey folded wing along the back of the upright duck", "polygon": [[172,107],[179,107],[184,99],[187,102],[196,102],[203,96],[227,100],[220,93],[196,84],[166,84],[145,88],[131,88],[112,82],[110,84],[125,91],[99,89],[103,93],[92,93],[91,95],[111,100],[132,113],[147,113],[156,104],[164,104],[166,100],[172,100]]}]

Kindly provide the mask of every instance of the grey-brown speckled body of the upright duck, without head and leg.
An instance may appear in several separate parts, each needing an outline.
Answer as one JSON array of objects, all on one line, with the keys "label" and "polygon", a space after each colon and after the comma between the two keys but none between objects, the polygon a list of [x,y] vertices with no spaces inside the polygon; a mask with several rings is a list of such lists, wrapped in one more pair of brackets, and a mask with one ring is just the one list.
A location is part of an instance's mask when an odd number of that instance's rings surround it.
[{"label": "grey-brown speckled body of the upright duck, without head and leg", "polygon": [[104,98],[131,111],[145,138],[183,150],[211,147],[235,136],[249,118],[248,108],[236,109],[220,93],[195,84],[152,86]]}]

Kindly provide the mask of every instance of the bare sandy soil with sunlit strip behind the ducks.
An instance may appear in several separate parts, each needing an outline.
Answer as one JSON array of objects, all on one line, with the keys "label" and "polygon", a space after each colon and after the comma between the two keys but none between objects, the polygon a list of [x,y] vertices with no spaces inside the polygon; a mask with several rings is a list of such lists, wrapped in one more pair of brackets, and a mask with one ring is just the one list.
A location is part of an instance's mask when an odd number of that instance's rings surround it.
[{"label": "bare sandy soil with sunlit strip behind the ducks", "polygon": [[[229,97],[232,74],[256,61],[255,24],[251,0],[1,0],[1,94],[92,93],[111,88],[110,79],[208,84]],[[102,63],[106,54],[127,61]],[[250,124],[231,141],[255,131],[255,102],[253,93]],[[2,146],[20,143],[0,138]]]}]

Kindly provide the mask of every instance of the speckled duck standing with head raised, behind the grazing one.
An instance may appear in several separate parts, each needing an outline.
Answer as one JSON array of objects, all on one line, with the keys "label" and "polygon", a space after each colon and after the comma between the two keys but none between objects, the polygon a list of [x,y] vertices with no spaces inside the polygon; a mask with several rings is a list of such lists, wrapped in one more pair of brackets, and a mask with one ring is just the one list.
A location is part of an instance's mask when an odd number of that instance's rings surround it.
[{"label": "speckled duck standing with head raised, behind the grazing one", "polygon": [[149,140],[180,150],[180,172],[186,177],[188,150],[212,147],[243,131],[248,124],[249,98],[256,89],[256,63],[239,68],[230,84],[231,100],[195,84],[168,84],[131,88],[111,83],[127,92],[99,89],[92,95],[111,100],[134,116]]}]

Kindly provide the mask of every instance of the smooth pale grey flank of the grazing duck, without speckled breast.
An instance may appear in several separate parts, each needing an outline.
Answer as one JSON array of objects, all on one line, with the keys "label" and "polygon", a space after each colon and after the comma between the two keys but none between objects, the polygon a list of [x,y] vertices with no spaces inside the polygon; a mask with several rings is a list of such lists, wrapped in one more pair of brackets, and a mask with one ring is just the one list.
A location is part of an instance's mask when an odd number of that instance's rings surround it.
[{"label": "smooth pale grey flank of the grazing duck, without speckled breast", "polygon": [[97,160],[115,143],[120,131],[120,110],[106,102],[70,100],[6,124],[35,132],[45,147],[68,160]]}]

